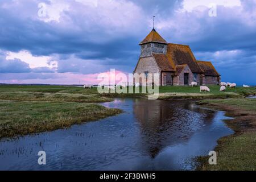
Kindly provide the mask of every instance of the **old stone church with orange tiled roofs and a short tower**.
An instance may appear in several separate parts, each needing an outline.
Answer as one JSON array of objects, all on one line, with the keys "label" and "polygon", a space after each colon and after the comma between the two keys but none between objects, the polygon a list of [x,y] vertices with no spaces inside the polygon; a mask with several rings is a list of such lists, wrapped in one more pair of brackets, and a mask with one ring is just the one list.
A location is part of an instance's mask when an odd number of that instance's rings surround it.
[{"label": "old stone church with orange tiled roofs and a short tower", "polygon": [[[198,61],[189,46],[167,43],[153,28],[139,44],[141,56],[134,73],[159,74],[159,85],[220,84],[220,74],[209,61]],[[141,83],[143,84],[143,83]]]}]

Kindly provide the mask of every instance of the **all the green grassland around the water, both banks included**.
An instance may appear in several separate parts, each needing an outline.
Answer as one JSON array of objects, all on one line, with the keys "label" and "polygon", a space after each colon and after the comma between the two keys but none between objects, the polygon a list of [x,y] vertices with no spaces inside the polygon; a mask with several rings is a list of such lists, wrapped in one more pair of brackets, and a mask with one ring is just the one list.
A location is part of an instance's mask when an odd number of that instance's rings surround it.
[{"label": "all the green grassland around the water, both banks included", "polygon": [[[252,121],[256,121],[256,100],[245,96],[255,95],[256,89],[237,87],[219,92],[220,86],[210,85],[209,88],[211,92],[200,93],[199,86],[159,87],[159,99],[201,100],[199,104],[226,110],[230,116],[237,118],[227,121],[236,135],[219,140],[216,148],[218,165],[209,166],[205,163],[208,158],[202,157],[199,169],[255,169],[256,124]],[[98,105],[98,102],[109,102],[113,97],[146,96],[146,93],[100,94],[97,88],[83,89],[75,86],[0,85],[0,138],[96,121],[122,112]]]}]

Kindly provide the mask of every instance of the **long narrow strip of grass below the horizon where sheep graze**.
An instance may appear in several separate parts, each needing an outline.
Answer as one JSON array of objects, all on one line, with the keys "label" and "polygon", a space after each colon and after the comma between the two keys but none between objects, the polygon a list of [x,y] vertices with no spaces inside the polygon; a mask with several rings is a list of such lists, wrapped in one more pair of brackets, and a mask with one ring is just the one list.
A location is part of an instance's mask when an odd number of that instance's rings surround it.
[{"label": "long narrow strip of grass below the horizon where sheep graze", "polygon": [[[160,86],[159,99],[189,99],[203,100],[216,98],[244,98],[255,95],[255,88],[226,88],[226,92],[220,92],[220,86],[209,85],[211,92],[201,92],[199,86]],[[52,101],[52,102],[108,102],[113,97],[144,97],[147,93],[111,93],[99,94],[97,88],[83,89],[72,86],[0,86],[0,100],[14,101]],[[134,90],[134,88],[133,88]]]}]

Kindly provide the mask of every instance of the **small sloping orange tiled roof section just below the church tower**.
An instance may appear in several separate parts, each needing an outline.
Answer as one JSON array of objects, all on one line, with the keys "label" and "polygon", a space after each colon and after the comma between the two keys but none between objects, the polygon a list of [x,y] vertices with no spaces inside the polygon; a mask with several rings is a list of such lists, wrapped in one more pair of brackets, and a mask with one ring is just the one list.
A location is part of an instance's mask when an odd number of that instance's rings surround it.
[{"label": "small sloping orange tiled roof section just below the church tower", "polygon": [[162,53],[152,53],[156,64],[158,64],[158,67],[162,71],[168,71],[168,72],[174,72],[175,68],[172,67],[170,64],[170,61],[168,60],[168,57]]}]

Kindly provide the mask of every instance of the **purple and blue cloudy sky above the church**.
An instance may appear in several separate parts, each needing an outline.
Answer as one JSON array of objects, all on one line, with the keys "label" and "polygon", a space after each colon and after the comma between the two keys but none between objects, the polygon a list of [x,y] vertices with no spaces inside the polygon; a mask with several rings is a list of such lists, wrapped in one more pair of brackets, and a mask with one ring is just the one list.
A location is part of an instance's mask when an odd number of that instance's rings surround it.
[{"label": "purple and blue cloudy sky above the church", "polygon": [[131,73],[153,15],[167,42],[212,61],[222,81],[256,85],[256,0],[1,0],[0,83],[94,84],[111,68]]}]

